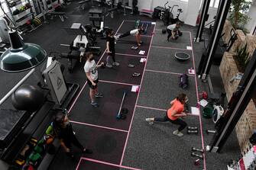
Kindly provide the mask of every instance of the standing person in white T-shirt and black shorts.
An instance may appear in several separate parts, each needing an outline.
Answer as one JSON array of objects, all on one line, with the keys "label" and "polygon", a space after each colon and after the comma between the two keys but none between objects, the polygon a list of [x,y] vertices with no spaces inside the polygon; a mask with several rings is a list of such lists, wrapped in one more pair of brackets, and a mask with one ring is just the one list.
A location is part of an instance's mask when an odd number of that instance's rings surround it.
[{"label": "standing person in white T-shirt and black shorts", "polygon": [[104,65],[96,65],[93,54],[91,52],[86,53],[86,64],[84,66],[84,71],[86,72],[87,83],[89,85],[89,96],[91,98],[91,104],[93,107],[99,107],[99,104],[96,102],[96,98],[102,98],[103,95],[98,91],[98,67]]}]

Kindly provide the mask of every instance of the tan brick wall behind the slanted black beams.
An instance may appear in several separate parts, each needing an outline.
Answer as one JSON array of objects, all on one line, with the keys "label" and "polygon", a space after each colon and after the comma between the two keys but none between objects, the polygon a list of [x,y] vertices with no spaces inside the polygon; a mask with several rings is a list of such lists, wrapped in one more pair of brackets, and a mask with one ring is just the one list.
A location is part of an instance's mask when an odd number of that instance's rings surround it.
[{"label": "tan brick wall behind the slanted black beams", "polygon": [[[224,31],[228,31],[228,34],[225,37],[223,36],[223,40],[228,41],[230,38],[230,25],[231,24],[226,21],[225,27],[223,29]],[[235,64],[235,60],[233,59],[233,55],[236,51],[235,48],[242,47],[245,45],[245,43],[248,43],[248,53],[250,53],[250,56],[252,56],[254,50],[256,49],[255,36],[245,36],[245,34],[243,34],[240,30],[237,30],[237,33],[238,40],[235,41],[234,46],[230,50],[230,53],[224,53],[222,57],[222,63],[219,66],[228,101],[232,97],[233,92],[236,90],[240,82],[240,80],[234,80],[233,82],[230,82],[230,79],[232,79],[232,77],[238,73],[238,68]],[[256,130],[256,108],[254,102],[251,100],[235,127],[241,151],[245,151],[245,149],[248,148],[248,139],[254,130]]]}]

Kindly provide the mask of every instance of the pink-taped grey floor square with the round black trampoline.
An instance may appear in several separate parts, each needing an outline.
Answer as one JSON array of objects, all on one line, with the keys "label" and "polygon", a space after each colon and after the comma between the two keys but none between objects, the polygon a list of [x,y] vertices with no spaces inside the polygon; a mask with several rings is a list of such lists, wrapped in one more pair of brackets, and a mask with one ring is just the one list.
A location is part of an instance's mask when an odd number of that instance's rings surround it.
[{"label": "pink-taped grey floor square with the round black trampoline", "polygon": [[[188,53],[190,55],[190,59],[180,62],[175,58],[175,53],[177,52]],[[162,72],[186,73],[191,67],[193,67],[191,50],[173,50],[152,47],[151,53],[147,59],[146,69],[158,70]]]}]

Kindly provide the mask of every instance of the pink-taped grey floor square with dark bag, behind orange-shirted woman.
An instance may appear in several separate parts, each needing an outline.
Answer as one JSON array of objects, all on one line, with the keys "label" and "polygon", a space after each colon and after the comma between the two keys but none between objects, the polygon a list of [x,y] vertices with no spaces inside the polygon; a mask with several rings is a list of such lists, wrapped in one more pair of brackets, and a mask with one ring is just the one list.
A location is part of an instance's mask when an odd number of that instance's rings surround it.
[{"label": "pink-taped grey floor square with dark bag, behind orange-shirted woman", "polygon": [[183,92],[190,99],[190,106],[195,106],[197,101],[193,76],[189,76],[189,82],[189,88],[183,90],[179,87],[179,75],[145,72],[138,105],[167,109],[170,107],[170,101]]}]

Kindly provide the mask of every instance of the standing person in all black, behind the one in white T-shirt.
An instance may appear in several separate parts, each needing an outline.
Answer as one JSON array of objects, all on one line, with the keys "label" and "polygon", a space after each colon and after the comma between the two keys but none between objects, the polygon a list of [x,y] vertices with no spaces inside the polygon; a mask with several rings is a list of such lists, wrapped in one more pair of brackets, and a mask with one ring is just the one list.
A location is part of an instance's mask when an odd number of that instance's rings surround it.
[{"label": "standing person in all black, behind the one in white T-shirt", "polygon": [[[109,29],[106,31],[107,34],[107,59],[106,59],[106,66],[112,68],[112,66],[119,66],[120,64],[115,61],[115,37],[114,37],[114,30]],[[113,63],[111,62],[111,58]]]}]

